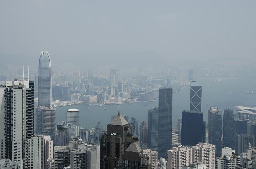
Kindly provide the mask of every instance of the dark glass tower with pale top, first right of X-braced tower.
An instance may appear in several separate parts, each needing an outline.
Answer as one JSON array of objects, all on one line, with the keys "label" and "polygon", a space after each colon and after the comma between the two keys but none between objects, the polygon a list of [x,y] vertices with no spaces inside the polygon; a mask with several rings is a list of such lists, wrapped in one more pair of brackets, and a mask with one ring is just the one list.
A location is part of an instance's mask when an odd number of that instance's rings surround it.
[{"label": "dark glass tower with pale top, first right of X-braced tower", "polygon": [[222,151],[222,114],[221,112],[212,112],[211,113],[211,127],[209,143],[215,145],[215,155],[216,157],[221,156]]}]

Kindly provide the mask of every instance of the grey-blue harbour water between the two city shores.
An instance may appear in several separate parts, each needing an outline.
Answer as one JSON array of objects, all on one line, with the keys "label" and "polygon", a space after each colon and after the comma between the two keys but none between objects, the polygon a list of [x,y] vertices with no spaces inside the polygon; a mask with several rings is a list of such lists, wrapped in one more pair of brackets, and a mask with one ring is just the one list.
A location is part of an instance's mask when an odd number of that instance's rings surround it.
[{"label": "grey-blue harbour water between the two city shores", "polygon": [[[222,82],[216,82],[216,79],[200,78],[197,79],[197,82],[202,85],[202,112],[206,122],[210,106],[218,106],[219,110],[234,109],[235,105],[256,107],[256,94],[244,93],[245,91],[256,92],[256,79],[222,78]],[[173,93],[172,126],[174,128],[177,125],[177,118],[182,116],[182,110],[189,110],[189,89],[187,87],[178,93]],[[158,98],[158,93],[155,93],[155,97]],[[119,106],[122,115],[137,117],[140,124],[142,121],[147,123],[148,110],[157,107],[158,101],[120,104]],[[86,129],[95,127],[98,120],[106,129],[107,124],[111,122],[111,116],[117,115],[118,112],[118,105],[89,106],[80,104],[56,107],[56,123],[65,121],[66,111],[75,108],[80,110],[80,125]],[[89,110],[87,110],[88,108]]]}]

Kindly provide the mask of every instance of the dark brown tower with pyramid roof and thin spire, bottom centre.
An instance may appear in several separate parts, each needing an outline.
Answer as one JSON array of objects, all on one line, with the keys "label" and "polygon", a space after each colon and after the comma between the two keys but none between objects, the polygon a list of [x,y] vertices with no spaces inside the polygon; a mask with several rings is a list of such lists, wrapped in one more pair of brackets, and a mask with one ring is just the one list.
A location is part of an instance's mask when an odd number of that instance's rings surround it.
[{"label": "dark brown tower with pyramid roof and thin spire, bottom centre", "polygon": [[139,140],[132,135],[130,124],[118,113],[107,125],[107,132],[103,134],[100,142],[100,168],[114,169],[119,159],[123,159],[124,151],[132,142]]}]

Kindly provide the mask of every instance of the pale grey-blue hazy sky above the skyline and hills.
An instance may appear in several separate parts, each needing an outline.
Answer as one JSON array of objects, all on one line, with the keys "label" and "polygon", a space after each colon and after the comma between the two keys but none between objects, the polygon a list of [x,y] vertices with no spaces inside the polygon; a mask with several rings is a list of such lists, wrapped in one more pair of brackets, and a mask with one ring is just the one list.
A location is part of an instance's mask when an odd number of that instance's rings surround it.
[{"label": "pale grey-blue hazy sky above the skyline and hills", "polygon": [[[254,0],[0,1],[0,53],[256,57]],[[87,56],[85,56],[87,57]]]}]

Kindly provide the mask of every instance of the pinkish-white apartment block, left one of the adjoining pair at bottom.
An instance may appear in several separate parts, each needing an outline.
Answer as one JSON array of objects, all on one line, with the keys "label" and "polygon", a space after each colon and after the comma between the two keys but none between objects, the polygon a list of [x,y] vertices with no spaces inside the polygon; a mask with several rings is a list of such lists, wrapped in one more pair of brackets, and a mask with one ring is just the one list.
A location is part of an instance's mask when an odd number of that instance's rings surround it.
[{"label": "pinkish-white apartment block, left one of the adjoining pair at bottom", "polygon": [[166,150],[167,168],[182,169],[183,165],[192,163],[192,148],[186,146],[172,147]]}]

